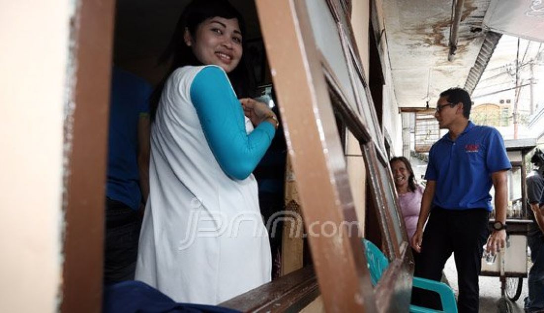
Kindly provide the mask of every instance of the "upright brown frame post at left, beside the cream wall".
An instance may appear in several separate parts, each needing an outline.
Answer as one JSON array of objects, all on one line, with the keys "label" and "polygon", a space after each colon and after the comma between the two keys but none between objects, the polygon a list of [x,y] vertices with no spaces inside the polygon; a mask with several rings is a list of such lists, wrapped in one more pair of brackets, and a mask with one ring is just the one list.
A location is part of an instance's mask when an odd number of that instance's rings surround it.
[{"label": "upright brown frame post at left, beside the cream wall", "polygon": [[64,122],[62,312],[102,310],[104,196],[115,0],[77,1]]}]

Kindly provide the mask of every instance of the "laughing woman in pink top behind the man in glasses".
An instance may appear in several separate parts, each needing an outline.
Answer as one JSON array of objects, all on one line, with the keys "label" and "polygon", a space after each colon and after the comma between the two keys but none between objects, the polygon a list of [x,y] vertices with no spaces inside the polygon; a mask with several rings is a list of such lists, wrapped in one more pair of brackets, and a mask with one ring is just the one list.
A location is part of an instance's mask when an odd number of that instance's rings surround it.
[{"label": "laughing woman in pink top behind the man in glasses", "polygon": [[416,232],[423,187],[416,184],[412,166],[405,157],[395,157],[389,163],[399,195],[398,203],[404,218],[408,242],[411,242],[412,236]]}]

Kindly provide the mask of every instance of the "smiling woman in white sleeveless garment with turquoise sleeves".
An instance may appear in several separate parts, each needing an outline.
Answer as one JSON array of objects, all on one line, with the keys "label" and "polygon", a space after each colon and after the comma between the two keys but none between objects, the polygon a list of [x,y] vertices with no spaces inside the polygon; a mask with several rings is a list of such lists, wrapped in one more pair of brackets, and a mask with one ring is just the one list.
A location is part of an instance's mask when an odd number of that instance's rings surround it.
[{"label": "smiling woman in white sleeveless garment with turquoise sleeves", "polygon": [[277,118],[238,99],[251,90],[243,38],[242,16],[226,0],[189,3],[167,54],[174,66],[155,93],[136,279],[177,302],[218,304],[270,281],[251,172]]}]

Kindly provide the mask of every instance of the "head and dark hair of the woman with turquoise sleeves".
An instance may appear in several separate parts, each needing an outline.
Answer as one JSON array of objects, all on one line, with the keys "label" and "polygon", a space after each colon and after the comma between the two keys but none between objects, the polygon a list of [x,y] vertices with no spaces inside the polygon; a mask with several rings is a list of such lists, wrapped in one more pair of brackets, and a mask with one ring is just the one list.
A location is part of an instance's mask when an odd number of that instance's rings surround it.
[{"label": "head and dark hair of the woman with turquoise sleeves", "polygon": [[166,79],[186,65],[218,65],[226,72],[239,98],[256,96],[255,80],[243,53],[245,35],[244,18],[228,1],[190,2],[159,59],[162,63],[171,61],[171,65],[151,96],[151,118],[154,118]]}]

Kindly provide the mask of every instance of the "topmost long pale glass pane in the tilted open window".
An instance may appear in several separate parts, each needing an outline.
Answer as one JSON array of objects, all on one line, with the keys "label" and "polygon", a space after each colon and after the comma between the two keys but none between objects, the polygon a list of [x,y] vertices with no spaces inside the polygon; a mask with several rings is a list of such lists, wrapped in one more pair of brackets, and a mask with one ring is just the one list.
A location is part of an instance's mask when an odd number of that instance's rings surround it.
[{"label": "topmost long pale glass pane in the tilted open window", "polygon": [[342,42],[338,34],[336,22],[325,0],[307,1],[310,24],[316,39],[317,47],[323,54],[327,64],[338,79],[345,97],[354,112],[358,112],[351,80],[349,78],[348,65],[342,50]]}]

